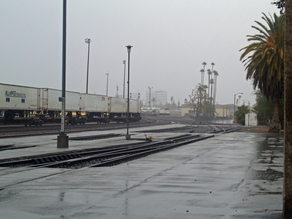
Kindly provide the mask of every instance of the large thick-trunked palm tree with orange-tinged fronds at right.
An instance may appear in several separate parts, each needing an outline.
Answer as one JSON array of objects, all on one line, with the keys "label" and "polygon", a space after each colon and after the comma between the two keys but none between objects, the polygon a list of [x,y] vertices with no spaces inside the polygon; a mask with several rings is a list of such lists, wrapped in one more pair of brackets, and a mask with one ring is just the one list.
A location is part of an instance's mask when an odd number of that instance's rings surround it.
[{"label": "large thick-trunked palm tree with orange-tinged fronds at right", "polygon": [[273,113],[269,131],[278,132],[281,123],[279,100],[284,91],[285,22],[284,15],[277,16],[274,13],[274,20],[270,14],[270,17],[265,15],[265,13],[263,15],[262,19],[265,20],[268,27],[255,21],[260,27],[252,27],[258,30],[260,34],[248,35],[250,37],[248,41],[253,41],[253,43],[241,49],[244,52],[241,54],[240,60],[243,60],[248,53],[253,53],[242,61],[246,62],[244,64],[246,65],[245,70],[247,70],[246,79],[253,80],[254,90],[258,87],[267,99],[269,97],[272,99]]}]

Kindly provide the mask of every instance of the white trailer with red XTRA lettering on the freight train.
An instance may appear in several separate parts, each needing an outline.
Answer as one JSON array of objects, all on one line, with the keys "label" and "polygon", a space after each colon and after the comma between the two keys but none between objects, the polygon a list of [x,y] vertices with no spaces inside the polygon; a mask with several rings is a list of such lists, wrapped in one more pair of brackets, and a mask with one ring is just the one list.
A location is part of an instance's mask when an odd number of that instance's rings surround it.
[{"label": "white trailer with red XTRA lettering on the freight train", "polygon": [[82,112],[107,112],[107,96],[80,93],[79,106]]}]

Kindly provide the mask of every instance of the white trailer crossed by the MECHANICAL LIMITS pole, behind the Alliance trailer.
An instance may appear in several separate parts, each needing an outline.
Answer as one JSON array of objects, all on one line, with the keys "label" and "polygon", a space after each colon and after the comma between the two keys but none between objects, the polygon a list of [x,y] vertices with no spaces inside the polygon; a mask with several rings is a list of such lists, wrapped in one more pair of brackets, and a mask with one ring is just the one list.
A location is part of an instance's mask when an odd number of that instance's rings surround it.
[{"label": "white trailer crossed by the MECHANICAL LIMITS pole, behind the Alliance trailer", "polygon": [[[77,92],[66,91],[65,111],[80,111],[79,96],[80,94]],[[39,88],[39,110],[61,111],[62,102],[59,101],[59,97],[62,97],[61,90],[55,90],[51,88]]]}]

